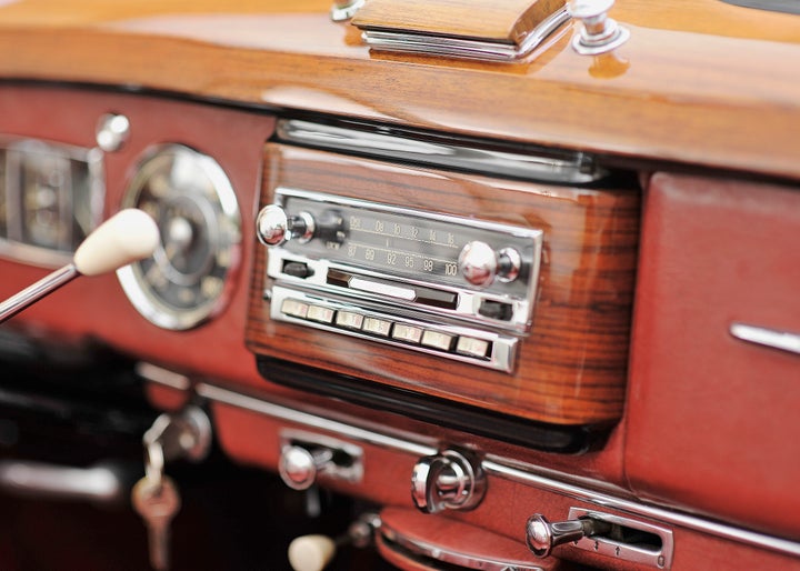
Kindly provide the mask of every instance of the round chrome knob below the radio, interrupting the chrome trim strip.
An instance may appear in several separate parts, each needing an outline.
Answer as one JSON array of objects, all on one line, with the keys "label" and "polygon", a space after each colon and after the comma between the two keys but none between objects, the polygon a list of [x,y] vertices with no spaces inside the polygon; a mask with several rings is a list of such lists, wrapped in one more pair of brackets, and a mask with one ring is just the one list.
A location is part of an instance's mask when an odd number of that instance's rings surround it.
[{"label": "round chrome knob below the radio, interrupting the chrome trim strip", "polygon": [[411,498],[426,513],[471,510],[484,494],[480,463],[454,450],[421,458],[411,473]]}]

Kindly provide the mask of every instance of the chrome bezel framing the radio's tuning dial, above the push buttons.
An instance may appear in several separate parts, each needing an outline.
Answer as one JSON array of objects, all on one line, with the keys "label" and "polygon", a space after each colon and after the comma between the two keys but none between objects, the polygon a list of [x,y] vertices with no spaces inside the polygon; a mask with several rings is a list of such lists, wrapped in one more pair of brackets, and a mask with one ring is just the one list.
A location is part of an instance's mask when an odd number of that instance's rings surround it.
[{"label": "chrome bezel framing the radio's tuning dial, above the push buttons", "polygon": [[[370,303],[380,303],[387,308],[396,308],[402,312],[413,312],[426,322],[440,321],[444,318],[454,323],[468,323],[471,327],[490,328],[492,330],[509,331],[517,335],[524,335],[530,331],[532,324],[533,307],[538,292],[539,273],[541,267],[541,252],[543,231],[538,228],[513,226],[500,222],[492,222],[480,219],[466,218],[454,214],[430,212],[407,207],[384,204],[361,199],[353,199],[338,194],[329,194],[318,191],[291,189],[279,187],[274,191],[274,204],[287,206],[287,199],[298,198],[317,202],[331,208],[357,209],[378,213],[389,213],[410,219],[433,221],[434,223],[448,224],[454,228],[466,228],[470,232],[484,232],[493,238],[507,237],[522,241],[530,249],[530,256],[524,259],[524,282],[523,295],[508,295],[486,291],[478,287],[456,287],[453,284],[440,283],[436,279],[413,279],[408,276],[391,276],[381,271],[357,264],[342,263],[341,260],[312,258],[287,250],[283,246],[270,247],[267,262],[267,288],[266,295],[270,295],[273,284],[281,284],[290,288],[299,288],[306,291],[320,292],[338,298],[353,297]],[[296,277],[283,271],[287,263],[298,262],[306,264],[312,276]],[[331,271],[340,271],[357,277],[372,286],[369,289],[353,289],[329,283]],[[438,292],[451,293],[457,300],[456,307],[443,308],[430,305],[408,299],[402,295],[402,289],[430,289]],[[399,294],[396,294],[400,290]],[[352,301],[351,301],[352,302]],[[509,307],[509,319],[493,319],[481,314],[481,305],[487,302],[502,303]],[[387,310],[388,311],[388,310]],[[416,317],[417,317],[416,315]],[[423,317],[424,315],[424,317]],[[274,318],[274,315],[273,315]]]}]

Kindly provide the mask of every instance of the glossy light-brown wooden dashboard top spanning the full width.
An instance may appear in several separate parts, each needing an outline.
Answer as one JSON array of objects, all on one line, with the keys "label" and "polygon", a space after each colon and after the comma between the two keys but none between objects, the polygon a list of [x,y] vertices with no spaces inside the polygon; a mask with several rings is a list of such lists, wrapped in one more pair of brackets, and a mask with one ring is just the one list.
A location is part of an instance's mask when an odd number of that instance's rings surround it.
[{"label": "glossy light-brown wooden dashboard top spanning the full width", "polygon": [[[189,3],[198,8],[189,8]],[[212,8],[213,6],[213,8]],[[631,40],[484,64],[371,53],[328,0],[20,0],[0,77],[159,89],[800,179],[800,18],[718,0],[619,0]]]}]

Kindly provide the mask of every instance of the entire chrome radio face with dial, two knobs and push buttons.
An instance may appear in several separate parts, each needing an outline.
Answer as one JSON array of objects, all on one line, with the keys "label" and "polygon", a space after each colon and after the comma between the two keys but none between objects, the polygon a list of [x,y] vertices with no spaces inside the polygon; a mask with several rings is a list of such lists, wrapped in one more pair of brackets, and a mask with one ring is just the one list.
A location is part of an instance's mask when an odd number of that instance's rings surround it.
[{"label": "entire chrome radio face with dial, two knobs and push buttons", "polygon": [[511,371],[541,230],[289,188],[258,226],[271,319]]}]

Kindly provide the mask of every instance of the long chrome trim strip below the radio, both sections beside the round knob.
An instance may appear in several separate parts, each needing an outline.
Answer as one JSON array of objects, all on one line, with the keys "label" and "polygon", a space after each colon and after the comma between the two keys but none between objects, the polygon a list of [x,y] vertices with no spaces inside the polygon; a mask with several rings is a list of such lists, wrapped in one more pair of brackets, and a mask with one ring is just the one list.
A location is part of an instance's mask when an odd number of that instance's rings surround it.
[{"label": "long chrome trim strip below the radio, both sections beside the round knob", "polygon": [[[417,434],[400,433],[400,431],[398,431],[398,435],[392,437],[383,432],[353,427],[351,424],[330,420],[317,414],[274,404],[262,399],[222,389],[213,384],[200,383],[196,387],[196,390],[199,395],[216,402],[286,420],[288,422],[306,424],[316,430],[336,432],[343,438],[351,438],[356,441],[383,447],[388,450],[396,450],[398,452],[420,457],[432,455],[439,452],[439,448],[436,445],[436,441],[433,439],[427,439],[428,443],[423,443],[421,437]],[[382,430],[388,430],[388,428],[383,427]],[[414,440],[417,442],[414,442]],[[606,509],[618,510],[634,517],[649,518],[661,523],[680,525],[701,533],[716,535],[718,538],[747,543],[757,548],[768,549],[770,551],[786,553],[792,557],[800,557],[800,542],[766,535],[763,533],[740,528],[733,528],[664,508],[639,503],[633,500],[616,498],[607,493],[538,475],[534,473],[537,467],[533,465],[530,465],[530,471],[526,471],[522,468],[512,468],[510,464],[516,464],[518,467],[521,465],[520,462],[512,459],[501,457],[491,458],[493,458],[493,460],[484,458],[481,465],[487,473],[497,478],[502,478],[524,485],[531,485],[546,492],[567,495],[573,500],[599,505]],[[563,475],[566,479],[570,477],[569,474]]]}]

